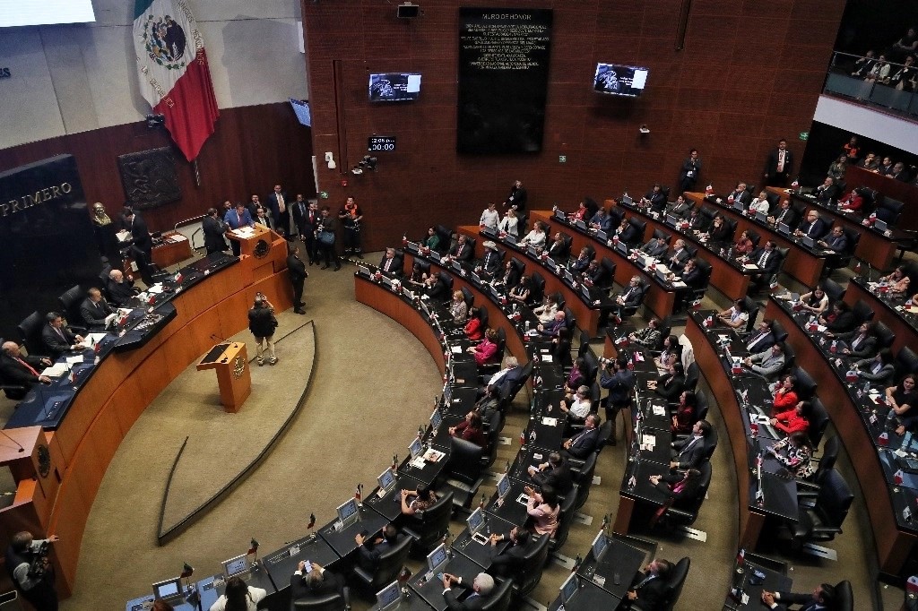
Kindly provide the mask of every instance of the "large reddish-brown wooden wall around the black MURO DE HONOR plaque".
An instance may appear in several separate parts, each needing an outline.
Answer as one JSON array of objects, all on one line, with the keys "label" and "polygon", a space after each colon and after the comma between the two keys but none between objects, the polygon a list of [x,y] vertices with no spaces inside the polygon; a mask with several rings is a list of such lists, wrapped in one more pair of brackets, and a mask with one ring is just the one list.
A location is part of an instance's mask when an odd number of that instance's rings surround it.
[{"label": "large reddish-brown wooden wall around the black MURO DE HONOR plaque", "polygon": [[[778,138],[803,152],[793,137],[812,123],[845,6],[814,2],[694,0],[683,51],[675,50],[681,0],[500,2],[554,8],[543,151],[472,157],[455,152],[458,10],[480,3],[431,0],[421,17],[398,20],[394,6],[375,0],[304,1],[314,144],[338,163],[334,171],[319,168],[319,188],[335,209],[356,197],[366,214],[364,247],[373,250],[406,231],[418,237],[433,223],[474,223],[517,178],[533,208],[673,184],[690,147],[700,149],[703,183],[755,183]],[[332,96],[336,60],[345,66],[346,158]],[[649,89],[638,100],[594,94],[597,61],[646,65]],[[420,99],[370,105],[366,74],[384,71],[421,72]],[[646,137],[637,133],[642,123],[651,128]],[[396,136],[398,149],[377,154],[374,174],[353,176],[348,171],[372,133]]]}]

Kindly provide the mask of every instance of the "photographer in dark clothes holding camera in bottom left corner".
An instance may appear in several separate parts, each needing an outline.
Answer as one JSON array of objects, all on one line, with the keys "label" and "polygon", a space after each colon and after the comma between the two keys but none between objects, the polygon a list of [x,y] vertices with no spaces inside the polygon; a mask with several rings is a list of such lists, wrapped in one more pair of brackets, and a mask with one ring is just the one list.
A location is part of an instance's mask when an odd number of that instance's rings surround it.
[{"label": "photographer in dark clothes holding camera in bottom left corner", "polygon": [[34,539],[28,530],[17,532],[6,548],[6,571],[22,597],[36,611],[57,611],[58,596],[54,589],[54,569],[48,561],[51,543],[58,537]]}]

